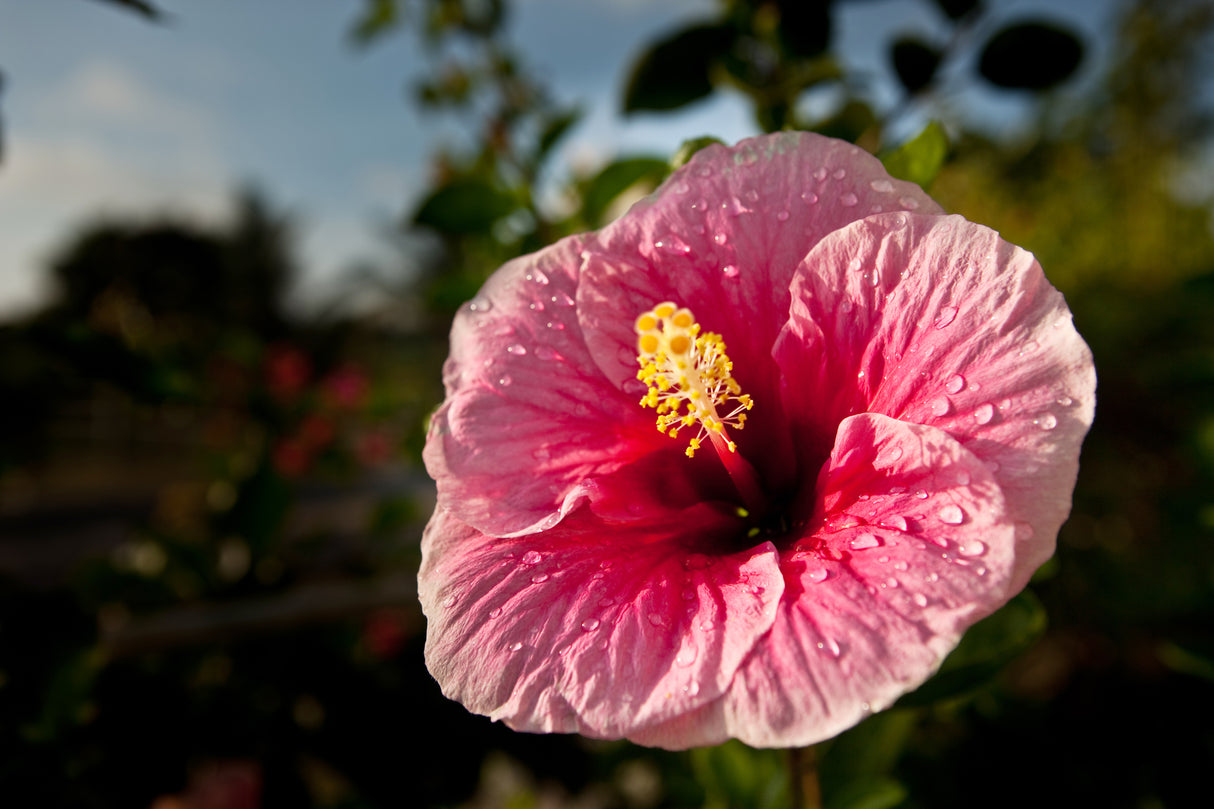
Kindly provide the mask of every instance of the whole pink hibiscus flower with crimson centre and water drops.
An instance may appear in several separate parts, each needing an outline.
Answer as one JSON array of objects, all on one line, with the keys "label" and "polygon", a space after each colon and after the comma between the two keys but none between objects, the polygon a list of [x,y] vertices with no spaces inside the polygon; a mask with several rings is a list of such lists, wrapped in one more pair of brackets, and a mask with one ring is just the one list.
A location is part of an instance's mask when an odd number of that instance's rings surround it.
[{"label": "whole pink hibiscus flower with crimson centre and water drops", "polygon": [[812,743],[923,683],[1053,553],[1095,403],[1032,255],[792,132],[501,267],[444,379],[430,671],[669,748]]}]

